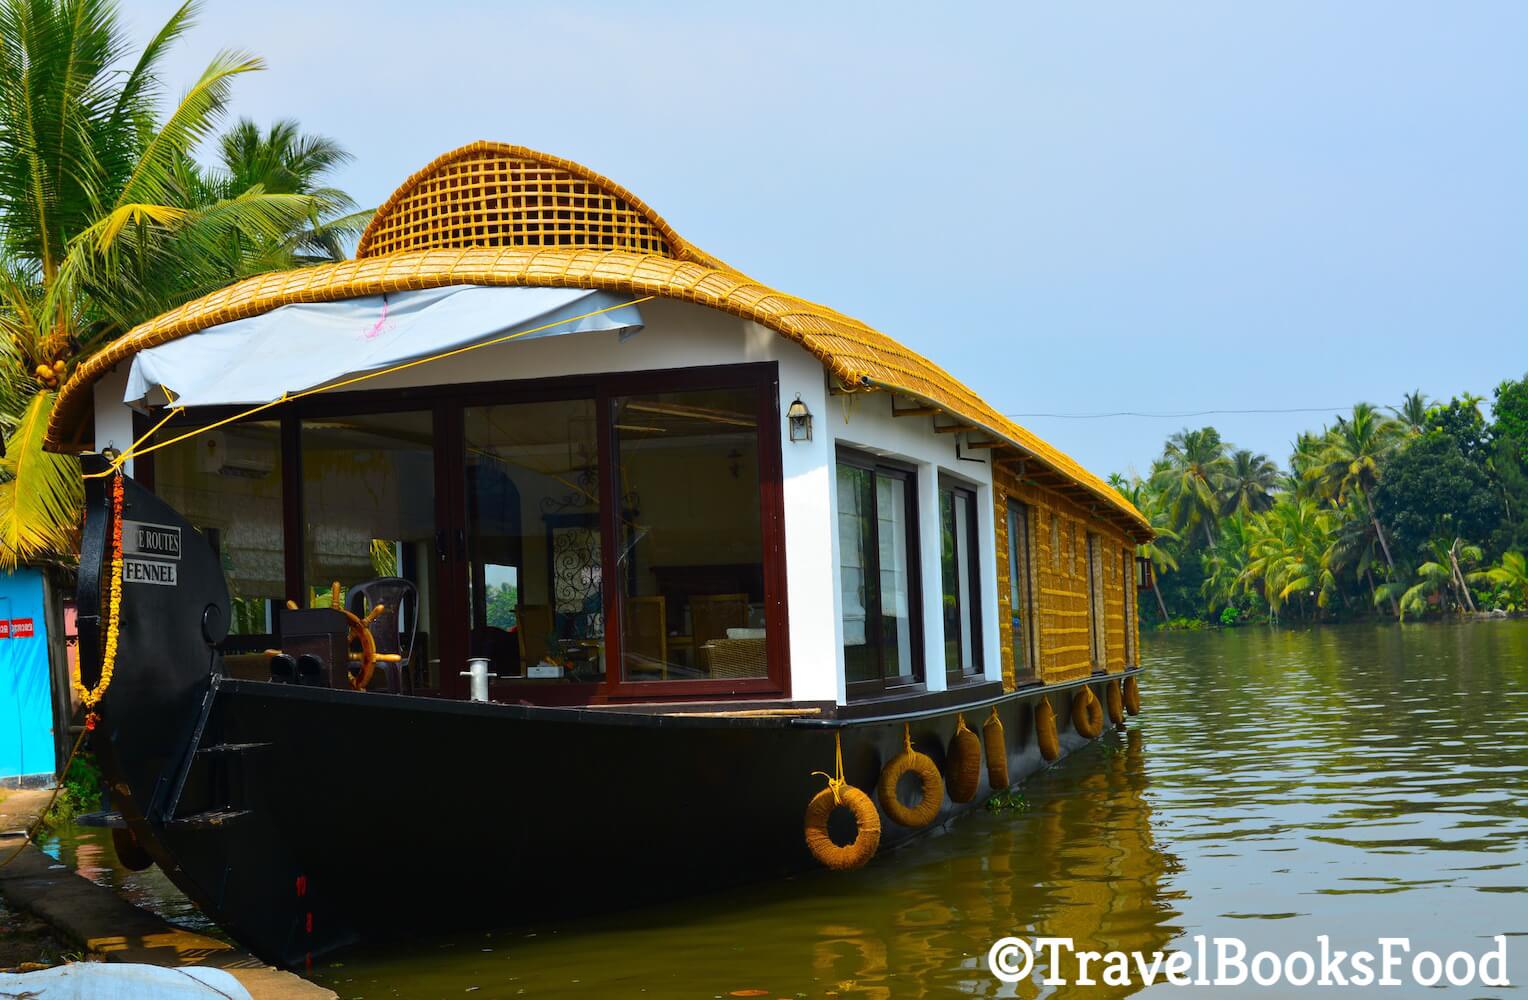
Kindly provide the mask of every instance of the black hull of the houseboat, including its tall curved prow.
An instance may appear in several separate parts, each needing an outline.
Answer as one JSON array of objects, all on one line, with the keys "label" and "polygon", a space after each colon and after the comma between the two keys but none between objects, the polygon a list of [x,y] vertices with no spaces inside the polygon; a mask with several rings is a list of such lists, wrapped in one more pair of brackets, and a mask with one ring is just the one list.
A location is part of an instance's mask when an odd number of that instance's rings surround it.
[{"label": "black hull of the houseboat, including its tall curved prow", "polygon": [[[89,480],[81,664],[93,682],[110,566],[108,495]],[[127,517],[189,526],[127,480]],[[1062,749],[1080,683],[927,713],[834,720],[483,705],[222,676],[222,572],[186,541],[177,587],[124,596],[116,673],[92,748],[144,852],[261,959],[286,966],[359,940],[637,905],[811,869],[807,803],[833,771],[874,792],[914,745],[941,771],[957,716],[996,705],[1015,781],[1044,766],[1033,706]],[[990,690],[990,688],[987,688]],[[746,705],[740,705],[746,706]],[[946,798],[937,829],[970,803]],[[883,820],[882,852],[918,830]],[[882,864],[877,859],[872,864]]]}]

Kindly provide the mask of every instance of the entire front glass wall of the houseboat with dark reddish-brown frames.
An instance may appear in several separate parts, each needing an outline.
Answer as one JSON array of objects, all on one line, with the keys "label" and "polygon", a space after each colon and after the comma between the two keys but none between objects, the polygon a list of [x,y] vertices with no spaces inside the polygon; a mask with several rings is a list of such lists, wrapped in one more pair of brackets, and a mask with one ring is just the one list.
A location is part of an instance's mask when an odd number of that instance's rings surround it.
[{"label": "entire front glass wall of the houseboat with dark reddish-brown frames", "polygon": [[160,466],[251,648],[283,598],[388,584],[417,595],[390,609],[416,693],[463,696],[484,657],[498,700],[779,694],[779,424],[775,365],[749,364],[341,393]]}]

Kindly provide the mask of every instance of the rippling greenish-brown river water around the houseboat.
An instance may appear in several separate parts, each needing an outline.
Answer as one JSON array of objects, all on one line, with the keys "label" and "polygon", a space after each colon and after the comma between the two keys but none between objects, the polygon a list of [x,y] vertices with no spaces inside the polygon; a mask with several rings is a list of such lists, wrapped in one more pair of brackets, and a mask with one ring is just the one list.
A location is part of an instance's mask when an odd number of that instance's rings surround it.
[{"label": "rippling greenish-brown river water around the houseboat", "polygon": [[[986,954],[1007,934],[1148,953],[1236,936],[1280,954],[1320,934],[1479,954],[1507,934],[1508,974],[1528,979],[1528,621],[1154,635],[1146,656],[1141,716],[1024,784],[1027,809],[860,872],[422,933],[312,977],[341,997],[1233,995],[1045,986],[1044,971],[1005,985]],[[492,846],[463,849],[492,862]]]}]

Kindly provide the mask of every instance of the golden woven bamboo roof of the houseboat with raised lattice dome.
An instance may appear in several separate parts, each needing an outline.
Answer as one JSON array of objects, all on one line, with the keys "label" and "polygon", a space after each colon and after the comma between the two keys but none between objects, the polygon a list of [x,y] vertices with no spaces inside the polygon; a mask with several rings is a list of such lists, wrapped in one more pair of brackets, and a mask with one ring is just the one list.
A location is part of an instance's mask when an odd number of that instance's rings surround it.
[{"label": "golden woven bamboo roof of the houseboat with raised lattice dome", "polygon": [[139,350],[292,303],[445,284],[593,287],[729,312],[801,344],[848,391],[888,391],[995,442],[995,459],[1114,521],[1151,528],[1118,492],[993,410],[938,365],[825,306],[775,291],[694,246],[642,199],[571,161],[474,142],[435,159],[377,208],[356,258],[246,278],[142,323],[84,361],[58,393],[47,445],[89,434],[90,387]]}]

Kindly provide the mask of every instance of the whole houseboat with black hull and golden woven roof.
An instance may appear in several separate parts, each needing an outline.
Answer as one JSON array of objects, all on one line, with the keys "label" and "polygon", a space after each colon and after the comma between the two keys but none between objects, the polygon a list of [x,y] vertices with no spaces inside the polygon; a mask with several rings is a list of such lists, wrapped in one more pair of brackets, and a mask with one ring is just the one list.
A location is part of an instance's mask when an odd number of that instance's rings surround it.
[{"label": "whole houseboat with black hull and golden woven roof", "polygon": [[133,329],[49,446],[119,853],[281,965],[872,862],[1138,706],[1125,498],[523,147]]}]

